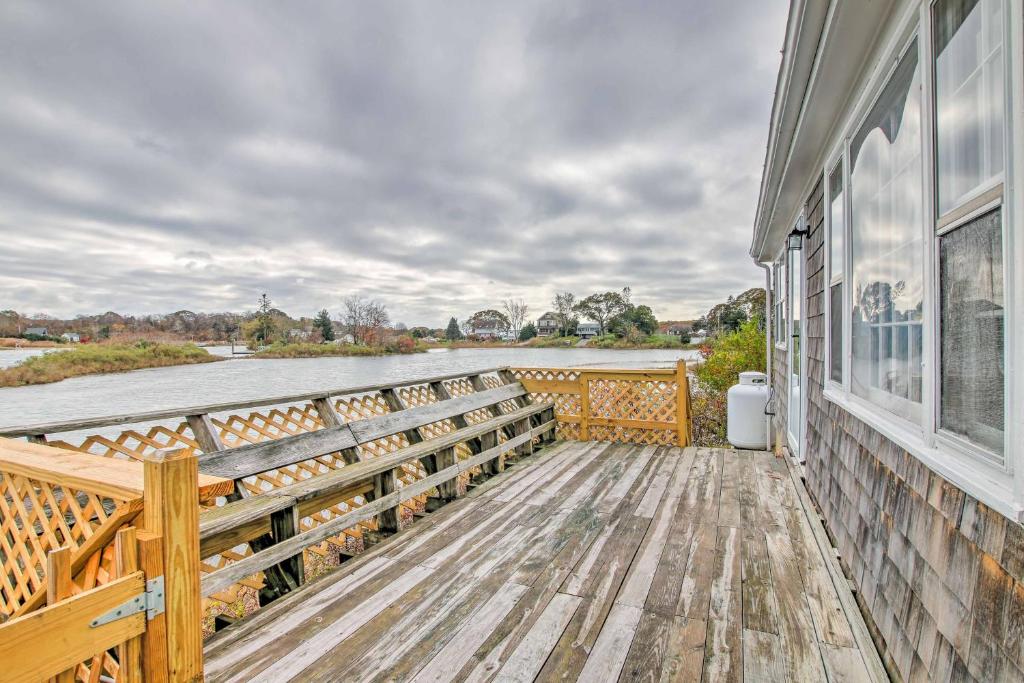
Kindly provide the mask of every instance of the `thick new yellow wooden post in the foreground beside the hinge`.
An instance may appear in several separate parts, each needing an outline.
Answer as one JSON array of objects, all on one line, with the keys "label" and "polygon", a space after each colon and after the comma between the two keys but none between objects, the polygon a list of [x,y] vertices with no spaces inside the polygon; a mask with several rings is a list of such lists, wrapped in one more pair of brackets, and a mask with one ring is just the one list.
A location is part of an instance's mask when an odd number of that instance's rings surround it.
[{"label": "thick new yellow wooden post in the foreground beside the hinge", "polygon": [[143,527],[162,539],[167,677],[203,678],[199,570],[199,466],[185,450],[161,450],[143,462]]}]

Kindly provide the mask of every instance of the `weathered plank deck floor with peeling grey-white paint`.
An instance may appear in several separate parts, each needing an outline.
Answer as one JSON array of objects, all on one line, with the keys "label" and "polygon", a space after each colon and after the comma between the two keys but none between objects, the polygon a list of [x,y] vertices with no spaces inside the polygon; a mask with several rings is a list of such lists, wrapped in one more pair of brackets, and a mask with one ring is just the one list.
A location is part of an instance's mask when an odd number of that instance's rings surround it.
[{"label": "weathered plank deck floor with peeling grey-white paint", "polygon": [[559,442],[218,633],[207,680],[883,680],[795,481]]}]

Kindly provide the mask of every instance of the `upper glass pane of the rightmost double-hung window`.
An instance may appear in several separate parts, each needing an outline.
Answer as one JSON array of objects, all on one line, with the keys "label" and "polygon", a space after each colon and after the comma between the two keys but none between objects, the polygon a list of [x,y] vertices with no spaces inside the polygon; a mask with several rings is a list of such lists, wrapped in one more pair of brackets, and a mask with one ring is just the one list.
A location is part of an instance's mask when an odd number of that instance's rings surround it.
[{"label": "upper glass pane of the rightmost double-hung window", "polygon": [[1002,0],[934,8],[939,215],[1002,172]]}]

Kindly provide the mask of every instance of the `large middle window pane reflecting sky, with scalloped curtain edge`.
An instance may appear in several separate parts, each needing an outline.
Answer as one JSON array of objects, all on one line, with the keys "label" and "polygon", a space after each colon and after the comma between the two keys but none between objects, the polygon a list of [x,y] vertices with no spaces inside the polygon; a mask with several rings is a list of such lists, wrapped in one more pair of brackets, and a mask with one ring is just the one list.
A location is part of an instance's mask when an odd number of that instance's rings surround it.
[{"label": "large middle window pane reflecting sky, with scalloped curtain edge", "polygon": [[920,421],[921,74],[916,41],[851,144],[852,390]]}]

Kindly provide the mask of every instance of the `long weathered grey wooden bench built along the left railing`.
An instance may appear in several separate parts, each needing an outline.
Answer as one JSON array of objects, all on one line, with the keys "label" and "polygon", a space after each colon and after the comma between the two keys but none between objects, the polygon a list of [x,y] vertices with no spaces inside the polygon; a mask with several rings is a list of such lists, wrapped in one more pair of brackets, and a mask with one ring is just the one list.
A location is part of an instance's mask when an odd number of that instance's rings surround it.
[{"label": "long weathered grey wooden bench built along the left railing", "polygon": [[[443,505],[456,497],[463,472],[481,467],[485,475],[497,474],[504,469],[506,454],[524,455],[532,450],[535,438],[554,438],[553,403],[529,403],[519,382],[488,389],[478,376],[471,380],[476,390],[457,397],[449,395],[441,382],[431,383],[440,400],[416,408],[406,408],[397,392],[385,390],[391,413],[350,423],[342,423],[330,401],[323,400],[316,402],[323,429],[272,441],[224,449],[219,439],[209,438],[211,432],[205,443],[200,437],[204,443],[200,471],[236,481],[236,493],[226,505],[200,516],[201,555],[210,557],[247,542],[253,549],[252,555],[205,575],[203,596],[264,571],[261,601],[272,600],[303,582],[304,549],[371,519],[376,520],[379,533],[393,533],[398,530],[398,508],[403,501],[436,487],[438,496],[432,503]],[[509,401],[517,408],[505,413],[501,404]],[[466,415],[481,410],[492,417],[469,424]],[[205,428],[204,417],[189,418],[194,431]],[[424,438],[420,429],[442,420],[451,420],[456,429]],[[387,456],[359,458],[364,444],[395,434],[406,435],[410,445]],[[470,458],[457,460],[455,449],[460,443],[469,446]],[[335,453],[348,464],[259,495],[249,494],[242,484],[246,477]],[[399,488],[402,466],[415,461],[423,464],[427,476]],[[367,503],[301,530],[303,517],[356,496],[364,496]]]}]

